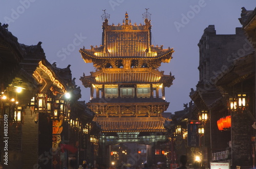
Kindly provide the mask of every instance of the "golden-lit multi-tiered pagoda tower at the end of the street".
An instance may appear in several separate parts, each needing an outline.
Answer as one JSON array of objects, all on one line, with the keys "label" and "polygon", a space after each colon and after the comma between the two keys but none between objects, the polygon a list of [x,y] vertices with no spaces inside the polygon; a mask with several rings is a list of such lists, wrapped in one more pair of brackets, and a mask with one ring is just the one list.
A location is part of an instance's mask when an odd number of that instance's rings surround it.
[{"label": "golden-lit multi-tiered pagoda tower at the end of the street", "polygon": [[164,75],[158,68],[169,63],[174,49],[152,45],[150,15],[146,9],[144,24],[137,25],[126,12],[122,24],[110,25],[109,14],[104,11],[102,45],[79,51],[84,62],[96,68],[80,80],[91,88],[87,105],[102,128],[101,152],[108,156],[111,150],[107,146],[136,142],[151,146],[146,153],[153,163],[157,142],[166,140],[163,123],[167,119],[162,112],[169,102],[165,101],[164,88],[174,80],[171,73]]}]

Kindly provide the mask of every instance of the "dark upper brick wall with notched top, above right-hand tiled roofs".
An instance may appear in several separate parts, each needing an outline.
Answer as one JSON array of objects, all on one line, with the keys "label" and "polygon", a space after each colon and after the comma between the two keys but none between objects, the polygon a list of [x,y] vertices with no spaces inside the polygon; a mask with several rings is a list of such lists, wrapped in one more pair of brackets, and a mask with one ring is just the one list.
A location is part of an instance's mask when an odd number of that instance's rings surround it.
[{"label": "dark upper brick wall with notched top, above right-hand tiled roofs", "polygon": [[[209,25],[198,46],[200,81],[210,81],[214,76],[223,75],[234,60],[253,51],[241,27],[237,27],[233,35],[216,35],[215,26]],[[214,84],[214,81],[210,82]]]}]

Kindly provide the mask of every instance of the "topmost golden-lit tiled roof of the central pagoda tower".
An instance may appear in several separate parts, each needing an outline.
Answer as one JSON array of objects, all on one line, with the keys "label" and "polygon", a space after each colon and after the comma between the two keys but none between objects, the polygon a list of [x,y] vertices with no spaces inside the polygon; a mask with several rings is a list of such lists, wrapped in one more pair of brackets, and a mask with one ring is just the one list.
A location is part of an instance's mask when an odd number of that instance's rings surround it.
[{"label": "topmost golden-lit tiled roof of the central pagoda tower", "polygon": [[109,25],[105,19],[102,25],[102,45],[91,46],[91,49],[80,49],[84,61],[94,59],[159,59],[167,62],[172,58],[173,48],[163,49],[151,43],[151,20],[145,19],[145,24],[129,23],[129,16],[125,14],[125,22]]}]

